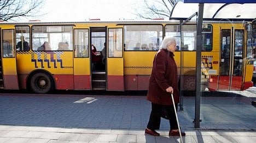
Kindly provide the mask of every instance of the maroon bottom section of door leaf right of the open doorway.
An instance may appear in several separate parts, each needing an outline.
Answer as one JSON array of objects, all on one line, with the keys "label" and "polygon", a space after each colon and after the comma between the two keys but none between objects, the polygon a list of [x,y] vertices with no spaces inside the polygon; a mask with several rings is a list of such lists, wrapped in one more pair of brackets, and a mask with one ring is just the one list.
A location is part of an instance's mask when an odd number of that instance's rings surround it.
[{"label": "maroon bottom section of door leaf right of the open doorway", "polygon": [[124,76],[111,76],[108,75],[108,89],[113,91],[120,91],[124,89]]}]

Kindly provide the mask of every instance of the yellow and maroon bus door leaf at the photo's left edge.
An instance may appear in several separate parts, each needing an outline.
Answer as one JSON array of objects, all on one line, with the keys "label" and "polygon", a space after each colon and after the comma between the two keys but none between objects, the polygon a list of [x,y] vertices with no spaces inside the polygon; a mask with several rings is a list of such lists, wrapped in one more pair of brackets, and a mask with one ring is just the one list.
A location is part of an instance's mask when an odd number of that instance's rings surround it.
[{"label": "yellow and maroon bus door leaf at the photo's left edge", "polygon": [[0,62],[0,88],[2,89],[19,89],[15,45],[14,29],[3,29]]}]

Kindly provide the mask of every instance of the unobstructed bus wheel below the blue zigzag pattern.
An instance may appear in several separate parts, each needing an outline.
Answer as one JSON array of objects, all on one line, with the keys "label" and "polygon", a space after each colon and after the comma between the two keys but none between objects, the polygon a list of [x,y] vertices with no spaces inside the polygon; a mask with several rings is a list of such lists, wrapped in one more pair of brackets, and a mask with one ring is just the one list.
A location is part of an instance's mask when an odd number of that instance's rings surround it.
[{"label": "unobstructed bus wheel below the blue zigzag pattern", "polygon": [[53,79],[48,74],[39,72],[32,76],[30,86],[36,94],[46,94],[53,89]]}]

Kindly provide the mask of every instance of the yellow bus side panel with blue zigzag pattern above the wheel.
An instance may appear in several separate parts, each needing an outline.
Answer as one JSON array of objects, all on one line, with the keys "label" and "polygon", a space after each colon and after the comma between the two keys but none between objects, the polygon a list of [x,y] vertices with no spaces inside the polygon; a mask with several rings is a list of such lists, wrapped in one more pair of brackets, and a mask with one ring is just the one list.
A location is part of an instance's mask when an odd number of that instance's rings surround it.
[{"label": "yellow bus side panel with blue zigzag pattern above the wheel", "polygon": [[52,74],[73,74],[73,52],[17,52],[16,55],[19,74],[37,69]]}]

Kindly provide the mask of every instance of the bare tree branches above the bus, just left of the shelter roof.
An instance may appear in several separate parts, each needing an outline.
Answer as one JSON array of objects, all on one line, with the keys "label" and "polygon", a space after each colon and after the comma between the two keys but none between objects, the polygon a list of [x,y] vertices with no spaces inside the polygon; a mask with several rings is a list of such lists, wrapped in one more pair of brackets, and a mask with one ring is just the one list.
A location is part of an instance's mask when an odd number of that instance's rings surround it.
[{"label": "bare tree branches above the bus, just left of the shelter roof", "polygon": [[144,0],[144,7],[136,9],[135,15],[144,19],[168,18],[175,3],[176,0]]}]

